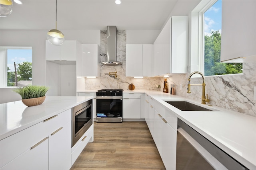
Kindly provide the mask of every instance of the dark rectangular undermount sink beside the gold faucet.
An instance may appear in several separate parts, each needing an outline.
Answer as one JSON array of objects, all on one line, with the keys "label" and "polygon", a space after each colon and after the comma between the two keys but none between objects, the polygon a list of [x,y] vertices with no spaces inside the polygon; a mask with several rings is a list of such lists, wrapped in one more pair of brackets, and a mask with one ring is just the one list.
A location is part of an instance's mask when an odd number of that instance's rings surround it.
[{"label": "dark rectangular undermount sink beside the gold faucet", "polygon": [[165,101],[182,111],[213,111],[186,101]]}]

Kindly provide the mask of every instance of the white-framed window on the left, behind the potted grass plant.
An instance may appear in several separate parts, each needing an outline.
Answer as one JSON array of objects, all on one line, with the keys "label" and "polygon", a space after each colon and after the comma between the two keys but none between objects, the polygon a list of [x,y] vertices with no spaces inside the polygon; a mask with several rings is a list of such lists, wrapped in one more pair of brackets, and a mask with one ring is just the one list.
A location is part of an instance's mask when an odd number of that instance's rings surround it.
[{"label": "white-framed window on the left, behind the potted grass plant", "polygon": [[1,87],[32,84],[32,47],[1,47]]}]

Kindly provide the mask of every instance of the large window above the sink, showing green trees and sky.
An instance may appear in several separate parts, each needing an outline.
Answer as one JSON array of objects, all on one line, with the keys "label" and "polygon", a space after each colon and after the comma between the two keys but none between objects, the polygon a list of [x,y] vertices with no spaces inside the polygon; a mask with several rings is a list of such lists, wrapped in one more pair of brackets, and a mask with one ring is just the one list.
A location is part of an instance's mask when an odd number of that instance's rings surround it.
[{"label": "large window above the sink, showing green trees and sky", "polygon": [[[215,2],[215,3],[214,3]],[[202,11],[202,70],[205,76],[242,73],[242,63],[220,63],[222,1]]]}]

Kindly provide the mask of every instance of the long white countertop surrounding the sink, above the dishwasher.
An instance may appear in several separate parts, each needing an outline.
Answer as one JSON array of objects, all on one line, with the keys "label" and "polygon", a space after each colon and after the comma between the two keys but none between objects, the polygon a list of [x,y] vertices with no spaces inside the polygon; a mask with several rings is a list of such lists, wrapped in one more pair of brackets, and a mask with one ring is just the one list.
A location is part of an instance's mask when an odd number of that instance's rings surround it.
[{"label": "long white countertop surrounding the sink, above the dishwasher", "polygon": [[[129,92],[129,91],[128,91]],[[180,96],[144,91],[250,170],[256,170],[256,117],[208,106]],[[165,101],[186,100],[216,111],[181,111]]]}]

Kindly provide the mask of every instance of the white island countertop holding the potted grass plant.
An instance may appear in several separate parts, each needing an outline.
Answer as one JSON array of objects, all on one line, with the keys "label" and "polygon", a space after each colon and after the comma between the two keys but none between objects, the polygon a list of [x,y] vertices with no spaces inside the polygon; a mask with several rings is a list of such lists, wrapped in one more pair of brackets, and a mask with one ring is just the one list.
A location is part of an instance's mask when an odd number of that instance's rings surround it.
[{"label": "white island countertop holding the potted grass plant", "polygon": [[0,140],[90,99],[92,97],[46,96],[38,106],[27,107],[21,100],[0,104]]}]

